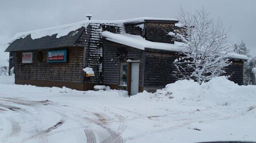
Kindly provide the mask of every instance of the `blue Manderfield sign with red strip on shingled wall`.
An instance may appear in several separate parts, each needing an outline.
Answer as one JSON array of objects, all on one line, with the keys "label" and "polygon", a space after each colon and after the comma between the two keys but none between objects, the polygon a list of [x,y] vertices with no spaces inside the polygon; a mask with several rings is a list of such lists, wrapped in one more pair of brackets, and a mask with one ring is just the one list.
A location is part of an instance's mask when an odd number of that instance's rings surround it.
[{"label": "blue Manderfield sign with red strip on shingled wall", "polygon": [[67,49],[49,50],[47,53],[47,62],[67,62]]}]

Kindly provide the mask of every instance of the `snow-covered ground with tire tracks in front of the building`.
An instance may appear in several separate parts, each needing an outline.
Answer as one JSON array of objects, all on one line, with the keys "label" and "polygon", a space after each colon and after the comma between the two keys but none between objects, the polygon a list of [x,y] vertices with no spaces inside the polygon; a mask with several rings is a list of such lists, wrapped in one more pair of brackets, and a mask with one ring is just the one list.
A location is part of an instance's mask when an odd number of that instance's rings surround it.
[{"label": "snow-covered ground with tire tracks in front of the building", "polygon": [[0,143],[256,141],[256,86],[224,77],[132,97],[12,83],[0,77]]}]

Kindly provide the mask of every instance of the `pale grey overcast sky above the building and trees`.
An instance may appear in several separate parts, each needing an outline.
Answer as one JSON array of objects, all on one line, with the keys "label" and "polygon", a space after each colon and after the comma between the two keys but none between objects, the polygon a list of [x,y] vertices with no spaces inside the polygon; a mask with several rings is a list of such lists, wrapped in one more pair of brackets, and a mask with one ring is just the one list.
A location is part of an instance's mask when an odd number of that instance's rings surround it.
[{"label": "pale grey overcast sky above the building and trees", "polygon": [[3,51],[18,32],[85,20],[123,20],[134,17],[175,18],[180,5],[188,11],[203,5],[220,17],[230,31],[230,43],[244,40],[256,56],[256,0],[0,0],[0,65],[8,65]]}]

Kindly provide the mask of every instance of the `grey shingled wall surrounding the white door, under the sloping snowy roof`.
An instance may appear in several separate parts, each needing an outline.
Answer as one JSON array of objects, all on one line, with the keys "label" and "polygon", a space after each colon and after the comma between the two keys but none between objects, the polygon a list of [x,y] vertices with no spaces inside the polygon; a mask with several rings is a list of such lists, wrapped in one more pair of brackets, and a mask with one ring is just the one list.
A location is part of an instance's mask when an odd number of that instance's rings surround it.
[{"label": "grey shingled wall surrounding the white door, under the sloping snowy roof", "polygon": [[143,50],[103,40],[103,84],[119,85],[120,63],[128,59],[140,61],[139,86],[143,86]]}]

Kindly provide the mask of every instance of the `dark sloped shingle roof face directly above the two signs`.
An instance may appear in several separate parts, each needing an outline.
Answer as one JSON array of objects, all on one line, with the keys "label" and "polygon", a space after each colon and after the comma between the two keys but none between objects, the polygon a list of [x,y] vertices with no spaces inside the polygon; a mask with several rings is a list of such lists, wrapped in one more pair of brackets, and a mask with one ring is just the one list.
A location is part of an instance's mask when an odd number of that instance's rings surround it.
[{"label": "dark sloped shingle roof face directly above the two signs", "polygon": [[73,46],[83,31],[84,27],[77,29],[76,31],[71,31],[66,36],[61,36],[59,38],[56,38],[57,34],[44,36],[39,39],[32,39],[31,35],[28,35],[24,39],[21,38],[12,42],[5,52]]}]

